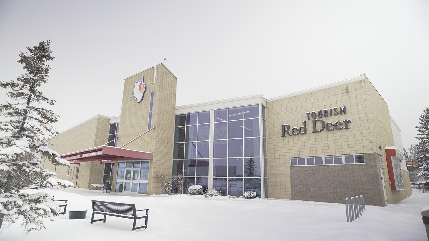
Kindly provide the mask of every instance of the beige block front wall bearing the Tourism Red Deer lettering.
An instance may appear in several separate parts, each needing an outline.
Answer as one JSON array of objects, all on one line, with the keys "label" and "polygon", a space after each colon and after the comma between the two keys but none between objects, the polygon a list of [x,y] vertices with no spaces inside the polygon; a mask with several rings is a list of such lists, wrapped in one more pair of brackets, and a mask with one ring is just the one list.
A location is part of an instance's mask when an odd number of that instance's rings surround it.
[{"label": "beige block front wall bearing the Tourism Red Deer lettering", "polygon": [[[269,196],[291,199],[290,160],[294,157],[371,153],[366,111],[365,80],[335,86],[267,103]],[[325,122],[350,119],[350,129],[311,133],[307,112],[346,106],[347,113],[322,117]],[[390,119],[388,119],[390,121]],[[300,127],[307,122],[308,134],[281,137],[281,125]],[[344,126],[344,125],[343,125]]]}]

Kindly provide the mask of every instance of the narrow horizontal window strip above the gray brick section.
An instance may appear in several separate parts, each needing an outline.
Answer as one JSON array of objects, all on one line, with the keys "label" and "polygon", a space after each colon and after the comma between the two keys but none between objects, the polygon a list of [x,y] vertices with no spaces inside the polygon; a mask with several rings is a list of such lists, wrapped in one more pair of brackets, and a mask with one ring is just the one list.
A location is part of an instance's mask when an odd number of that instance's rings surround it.
[{"label": "narrow horizontal window strip above the gray brick section", "polygon": [[[323,159],[325,160],[324,162],[323,162]],[[290,166],[364,164],[364,163],[365,163],[365,158],[363,157],[363,154],[290,158]]]}]

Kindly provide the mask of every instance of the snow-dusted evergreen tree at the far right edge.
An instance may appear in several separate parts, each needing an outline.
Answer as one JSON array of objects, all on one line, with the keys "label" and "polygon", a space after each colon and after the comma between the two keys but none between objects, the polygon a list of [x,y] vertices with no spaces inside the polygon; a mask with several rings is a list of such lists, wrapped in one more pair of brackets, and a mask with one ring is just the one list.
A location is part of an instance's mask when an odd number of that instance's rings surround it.
[{"label": "snow-dusted evergreen tree at the far right edge", "polygon": [[417,184],[429,185],[429,107],[423,110],[417,128],[416,158],[419,167],[420,181]]}]

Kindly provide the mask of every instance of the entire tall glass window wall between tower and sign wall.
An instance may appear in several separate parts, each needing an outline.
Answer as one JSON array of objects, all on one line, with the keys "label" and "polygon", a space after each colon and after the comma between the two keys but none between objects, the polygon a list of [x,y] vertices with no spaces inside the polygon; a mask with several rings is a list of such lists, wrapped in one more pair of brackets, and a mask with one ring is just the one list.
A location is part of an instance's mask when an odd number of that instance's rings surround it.
[{"label": "entire tall glass window wall between tower and sign wall", "polygon": [[268,197],[266,163],[262,105],[176,115],[172,175],[184,176],[184,193],[201,184],[231,196],[254,191],[262,197],[266,189]]}]

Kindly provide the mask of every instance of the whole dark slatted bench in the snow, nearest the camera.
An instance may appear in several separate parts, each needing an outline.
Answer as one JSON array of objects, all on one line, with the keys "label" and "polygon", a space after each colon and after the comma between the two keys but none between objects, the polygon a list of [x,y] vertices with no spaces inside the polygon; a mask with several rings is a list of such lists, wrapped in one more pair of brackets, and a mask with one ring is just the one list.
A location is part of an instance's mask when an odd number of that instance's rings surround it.
[{"label": "whole dark slatted bench in the snow, nearest the camera", "polygon": [[[142,210],[136,210],[135,204],[128,204],[128,203],[118,203],[118,202],[104,202],[104,201],[97,201],[97,200],[91,200],[92,203],[92,217],[91,217],[91,224],[93,222],[103,221],[103,223],[106,223],[106,216],[113,216],[113,217],[124,217],[133,219],[133,230],[136,229],[142,229],[148,227],[148,210],[149,209],[142,209]],[[145,216],[137,217],[138,211],[146,211]],[[104,218],[94,220],[95,214],[101,214],[104,215]],[[136,221],[137,219],[145,218],[145,225],[136,227]]]}]

